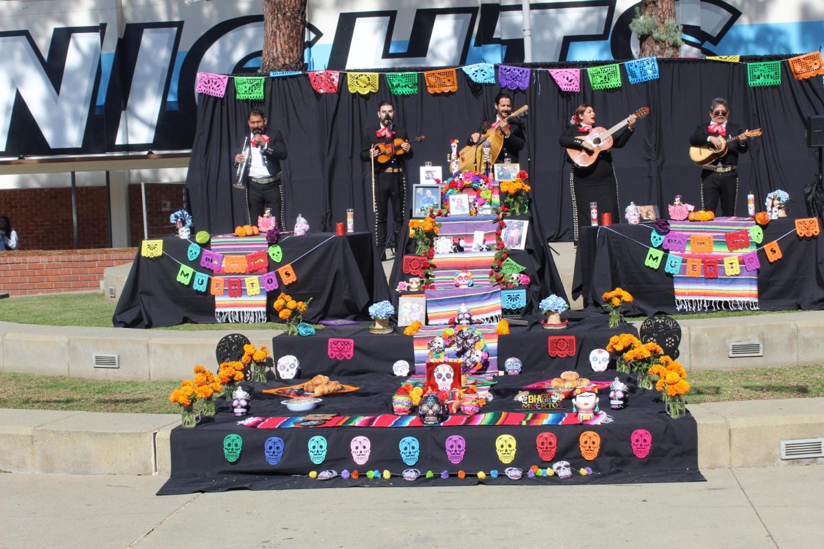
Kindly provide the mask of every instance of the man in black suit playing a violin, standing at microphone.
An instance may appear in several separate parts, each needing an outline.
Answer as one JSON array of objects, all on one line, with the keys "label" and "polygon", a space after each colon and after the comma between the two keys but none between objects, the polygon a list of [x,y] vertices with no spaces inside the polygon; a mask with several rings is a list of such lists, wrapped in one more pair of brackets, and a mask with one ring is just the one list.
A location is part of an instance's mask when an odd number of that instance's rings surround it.
[{"label": "man in black suit playing a violin, standing at microphone", "polygon": [[386,218],[392,208],[392,235],[389,243],[397,245],[400,224],[404,221],[406,202],[405,159],[412,158],[409,136],[395,123],[395,107],[382,101],[377,107],[380,125],[363,136],[361,161],[372,165],[372,207],[375,215],[375,245],[386,261]]}]

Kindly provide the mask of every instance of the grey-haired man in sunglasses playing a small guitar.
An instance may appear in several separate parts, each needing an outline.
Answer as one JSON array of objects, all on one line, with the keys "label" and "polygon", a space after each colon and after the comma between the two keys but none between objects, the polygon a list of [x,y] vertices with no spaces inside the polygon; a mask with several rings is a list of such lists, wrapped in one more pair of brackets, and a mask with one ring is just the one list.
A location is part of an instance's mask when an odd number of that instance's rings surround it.
[{"label": "grey-haired man in sunglasses playing a small guitar", "polygon": [[[743,128],[728,123],[727,100],[716,97],[709,107],[709,125],[700,124],[690,137],[690,144],[700,147],[709,143],[715,150],[727,144],[727,154],[714,164],[701,166],[701,209],[716,212],[721,203],[722,216],[734,216],[738,198],[738,154],[747,152],[747,134]],[[727,142],[729,137],[739,136]]]}]

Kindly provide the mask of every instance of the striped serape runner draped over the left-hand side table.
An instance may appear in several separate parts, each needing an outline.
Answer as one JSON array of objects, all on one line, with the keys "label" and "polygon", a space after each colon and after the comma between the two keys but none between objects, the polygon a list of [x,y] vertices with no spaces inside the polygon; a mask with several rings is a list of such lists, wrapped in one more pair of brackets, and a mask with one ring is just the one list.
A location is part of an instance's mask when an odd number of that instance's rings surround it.
[{"label": "striped serape runner draped over the left-hand side table", "polygon": [[[236,235],[218,235],[212,237],[210,249],[215,254],[227,256],[252,254],[253,252],[268,249],[268,247],[269,244],[266,242],[266,235],[243,237]],[[214,297],[214,318],[217,319],[218,322],[266,322],[265,289],[261,287],[260,294],[258,295],[246,294],[246,278],[258,277],[260,273],[227,273],[223,271],[223,266],[221,265],[220,270],[216,271],[214,276],[221,277],[225,281],[223,294],[215,295]],[[229,280],[232,278],[241,281],[241,295],[239,297],[229,297]]]}]

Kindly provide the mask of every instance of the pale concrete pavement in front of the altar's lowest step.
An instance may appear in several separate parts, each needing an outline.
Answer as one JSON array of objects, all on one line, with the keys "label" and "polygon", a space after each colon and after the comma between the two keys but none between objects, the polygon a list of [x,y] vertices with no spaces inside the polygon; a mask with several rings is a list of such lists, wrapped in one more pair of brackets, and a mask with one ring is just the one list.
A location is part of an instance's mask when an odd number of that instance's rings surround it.
[{"label": "pale concrete pavement in front of the altar's lowest step", "polygon": [[162,477],[0,474],[0,547],[821,547],[824,465],[705,477],[156,496]]}]

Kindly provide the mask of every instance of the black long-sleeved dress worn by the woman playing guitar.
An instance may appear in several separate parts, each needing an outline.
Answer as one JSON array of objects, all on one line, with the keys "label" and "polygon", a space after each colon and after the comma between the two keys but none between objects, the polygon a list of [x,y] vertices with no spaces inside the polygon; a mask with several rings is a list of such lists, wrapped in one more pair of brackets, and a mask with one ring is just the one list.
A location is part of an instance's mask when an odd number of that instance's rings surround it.
[{"label": "black long-sleeved dress worn by the woman playing guitar", "polygon": [[[629,128],[624,128],[618,136],[613,136],[612,148],[624,147],[632,137],[632,133]],[[561,147],[580,150],[583,146],[575,137],[586,137],[588,134],[589,132],[580,125],[570,124],[561,134],[559,142]],[[611,151],[598,153],[597,160],[585,168],[578,168],[574,165],[569,155],[566,161],[572,166],[569,172],[569,188],[572,193],[574,239],[578,240],[579,226],[590,225],[590,202],[597,203],[598,216],[604,212],[610,212],[612,222],[619,223],[618,180],[615,169],[612,167]]]}]

